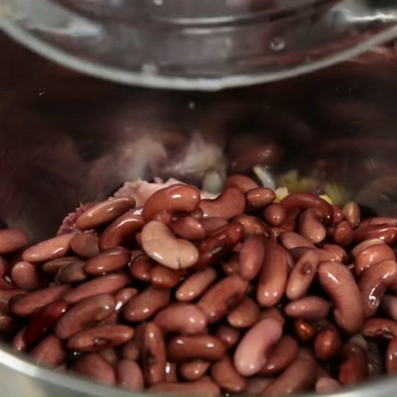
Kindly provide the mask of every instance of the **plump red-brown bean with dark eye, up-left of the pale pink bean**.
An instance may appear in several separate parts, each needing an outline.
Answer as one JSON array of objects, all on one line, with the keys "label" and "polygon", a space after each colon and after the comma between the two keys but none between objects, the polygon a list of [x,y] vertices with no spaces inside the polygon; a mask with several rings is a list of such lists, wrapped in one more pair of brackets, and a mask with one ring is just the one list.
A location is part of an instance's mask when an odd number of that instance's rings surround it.
[{"label": "plump red-brown bean with dark eye, up-left of the pale pink bean", "polygon": [[231,275],[218,281],[199,300],[198,305],[204,311],[208,324],[212,324],[243,299],[248,282],[238,275]]}]

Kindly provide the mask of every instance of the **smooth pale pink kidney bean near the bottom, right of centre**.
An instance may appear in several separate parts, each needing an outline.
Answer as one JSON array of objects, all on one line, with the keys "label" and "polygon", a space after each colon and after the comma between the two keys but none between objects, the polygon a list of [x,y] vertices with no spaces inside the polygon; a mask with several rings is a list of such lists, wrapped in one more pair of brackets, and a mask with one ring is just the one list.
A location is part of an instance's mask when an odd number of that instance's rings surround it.
[{"label": "smooth pale pink kidney bean near the bottom, right of centre", "polygon": [[237,345],[234,353],[234,366],[242,376],[258,373],[268,360],[271,346],[282,335],[280,323],[273,319],[259,321],[247,331]]}]

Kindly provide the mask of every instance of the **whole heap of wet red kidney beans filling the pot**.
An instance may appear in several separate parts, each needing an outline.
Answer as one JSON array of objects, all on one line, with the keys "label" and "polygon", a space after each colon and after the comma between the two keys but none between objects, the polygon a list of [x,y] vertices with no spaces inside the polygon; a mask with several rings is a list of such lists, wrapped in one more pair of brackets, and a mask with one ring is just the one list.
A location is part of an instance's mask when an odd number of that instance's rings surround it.
[{"label": "whole heap of wet red kidney beans filling the pot", "polygon": [[[276,202],[279,201],[279,202]],[[0,332],[36,362],[171,395],[331,393],[397,373],[397,218],[243,175],[0,230]]]}]

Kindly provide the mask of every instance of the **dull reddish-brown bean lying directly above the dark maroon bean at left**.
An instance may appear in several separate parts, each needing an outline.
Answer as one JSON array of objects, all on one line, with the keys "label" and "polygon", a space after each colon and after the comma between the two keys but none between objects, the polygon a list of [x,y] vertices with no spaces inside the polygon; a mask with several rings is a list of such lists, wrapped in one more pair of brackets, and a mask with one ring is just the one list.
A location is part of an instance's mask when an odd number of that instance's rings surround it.
[{"label": "dull reddish-brown bean lying directly above the dark maroon bean at left", "polygon": [[66,285],[53,285],[38,291],[30,292],[10,305],[11,312],[21,317],[31,316],[43,306],[63,298],[67,290],[68,287]]}]

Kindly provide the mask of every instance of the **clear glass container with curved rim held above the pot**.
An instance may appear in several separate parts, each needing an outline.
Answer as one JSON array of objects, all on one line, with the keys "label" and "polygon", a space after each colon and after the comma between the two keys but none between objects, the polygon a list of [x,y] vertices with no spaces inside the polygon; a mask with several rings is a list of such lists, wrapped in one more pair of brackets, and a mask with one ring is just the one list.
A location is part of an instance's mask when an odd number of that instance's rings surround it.
[{"label": "clear glass container with curved rim held above the pot", "polygon": [[0,17],[75,70],[200,90],[310,72],[397,33],[395,0],[2,0]]}]

